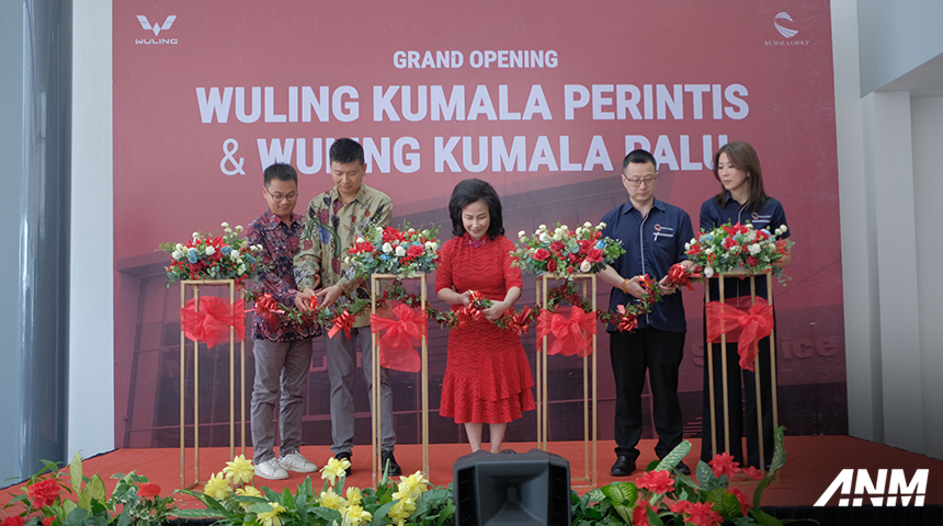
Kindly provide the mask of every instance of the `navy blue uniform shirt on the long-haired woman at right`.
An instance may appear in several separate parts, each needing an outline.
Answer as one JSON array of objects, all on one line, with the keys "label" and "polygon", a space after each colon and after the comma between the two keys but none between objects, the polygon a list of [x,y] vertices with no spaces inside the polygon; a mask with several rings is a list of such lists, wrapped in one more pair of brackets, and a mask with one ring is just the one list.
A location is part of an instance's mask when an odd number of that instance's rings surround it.
[{"label": "navy blue uniform shirt on the long-haired woman at right", "polygon": [[[753,225],[754,230],[766,230],[773,233],[782,225],[786,225],[786,213],[783,210],[783,205],[770,197],[765,203],[751,208],[748,205],[737,203],[728,191],[724,196],[724,205],[717,203],[717,196],[711,197],[701,205],[701,229],[711,231],[722,225]],[[789,237],[789,231],[782,236],[781,239]],[[690,241],[690,240],[689,240]],[[711,299],[719,299],[717,282],[711,282]],[[728,277],[724,279],[724,297],[732,298],[735,296],[749,296],[750,282],[739,277]],[[757,295],[762,298],[766,296],[766,279],[757,278]]]}]

